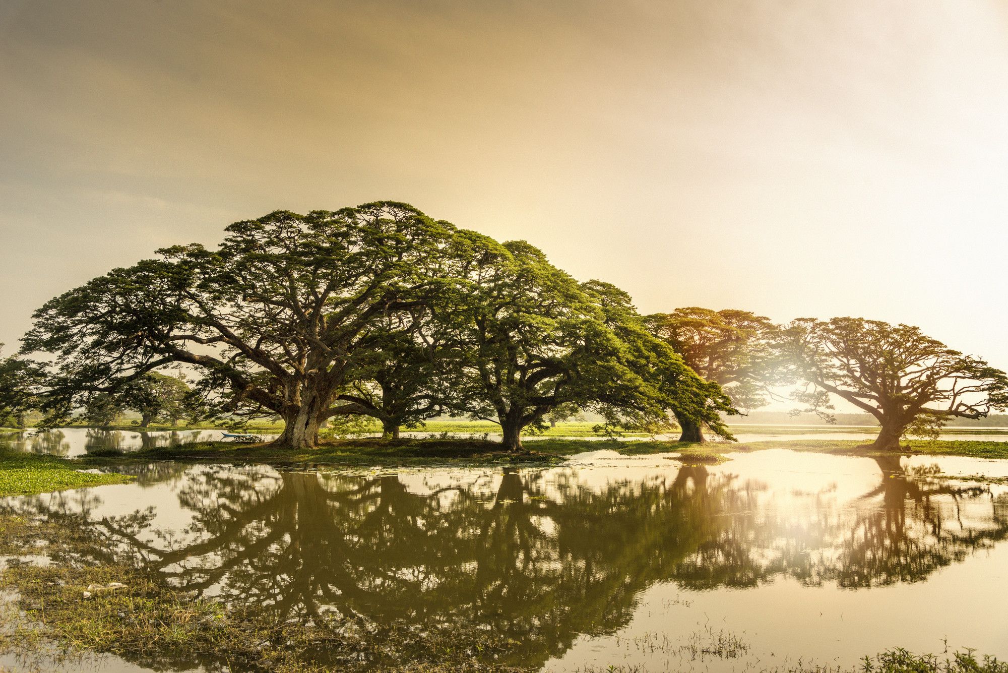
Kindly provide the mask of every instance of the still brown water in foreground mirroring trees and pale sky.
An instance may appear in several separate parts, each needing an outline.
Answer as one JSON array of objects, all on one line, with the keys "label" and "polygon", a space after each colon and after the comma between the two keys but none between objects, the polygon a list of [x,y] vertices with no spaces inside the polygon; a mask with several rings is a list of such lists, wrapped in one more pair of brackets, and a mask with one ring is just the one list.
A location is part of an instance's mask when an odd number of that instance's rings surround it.
[{"label": "still brown water in foreground mirroring trees and pale sky", "polygon": [[1005,476],[1004,461],[673,456],[156,463],[130,468],[135,484],[0,507],[94,526],[188,590],[283,619],[493,629],[514,641],[499,663],[542,671],[853,666],[896,646],[940,652],[943,639],[1008,658],[1008,487],[927,476]]}]

